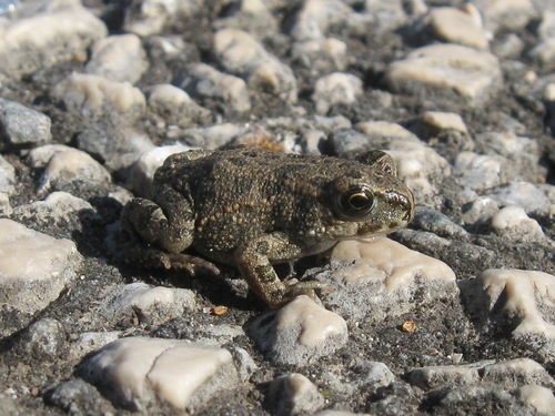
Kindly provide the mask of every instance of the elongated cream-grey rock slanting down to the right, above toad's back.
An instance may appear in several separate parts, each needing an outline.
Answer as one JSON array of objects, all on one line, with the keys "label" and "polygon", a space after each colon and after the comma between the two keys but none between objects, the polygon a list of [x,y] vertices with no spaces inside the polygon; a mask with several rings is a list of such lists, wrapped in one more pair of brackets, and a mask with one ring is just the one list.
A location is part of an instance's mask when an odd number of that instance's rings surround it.
[{"label": "elongated cream-grey rock slanting down to the right, above toad's back", "polygon": [[251,34],[223,29],[214,34],[213,52],[229,72],[255,89],[269,90],[289,103],[296,102],[296,80],[290,67],[268,52]]}]

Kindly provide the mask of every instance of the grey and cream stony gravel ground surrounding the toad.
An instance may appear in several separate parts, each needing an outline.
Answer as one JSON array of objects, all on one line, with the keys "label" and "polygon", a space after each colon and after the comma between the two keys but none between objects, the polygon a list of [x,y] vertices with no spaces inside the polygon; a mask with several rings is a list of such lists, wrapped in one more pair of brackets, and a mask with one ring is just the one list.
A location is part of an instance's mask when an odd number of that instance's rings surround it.
[{"label": "grey and cream stony gravel ground surrounding the toad", "polygon": [[[0,0],[0,414],[554,415],[554,33],[552,0]],[[163,160],[236,143],[385,150],[415,219],[278,311],[125,264]]]}]

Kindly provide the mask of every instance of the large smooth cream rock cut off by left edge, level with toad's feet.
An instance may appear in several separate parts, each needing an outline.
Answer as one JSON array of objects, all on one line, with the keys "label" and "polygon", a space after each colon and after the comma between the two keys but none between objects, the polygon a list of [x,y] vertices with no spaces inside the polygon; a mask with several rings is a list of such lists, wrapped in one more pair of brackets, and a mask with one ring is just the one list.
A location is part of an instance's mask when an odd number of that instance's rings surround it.
[{"label": "large smooth cream rock cut off by left edge, level with toad's feet", "polygon": [[32,314],[75,278],[75,244],[0,219],[0,305]]}]

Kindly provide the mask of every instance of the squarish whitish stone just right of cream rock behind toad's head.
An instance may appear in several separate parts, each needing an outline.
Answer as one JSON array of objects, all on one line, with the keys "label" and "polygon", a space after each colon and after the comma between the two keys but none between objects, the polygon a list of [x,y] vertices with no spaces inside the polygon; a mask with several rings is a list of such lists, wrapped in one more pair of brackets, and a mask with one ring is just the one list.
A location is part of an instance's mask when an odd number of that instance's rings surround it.
[{"label": "squarish whitish stone just right of cream rock behind toad's head", "polygon": [[461,152],[455,159],[455,172],[463,186],[474,191],[488,190],[502,183],[501,156],[485,156],[474,152]]}]

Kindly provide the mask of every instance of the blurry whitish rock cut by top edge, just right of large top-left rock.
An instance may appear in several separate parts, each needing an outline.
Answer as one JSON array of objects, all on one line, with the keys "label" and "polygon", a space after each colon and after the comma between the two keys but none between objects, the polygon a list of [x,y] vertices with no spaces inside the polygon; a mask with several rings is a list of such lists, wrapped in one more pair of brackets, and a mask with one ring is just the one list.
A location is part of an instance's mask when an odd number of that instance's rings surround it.
[{"label": "blurry whitish rock cut by top edge, just right of large top-left rock", "polygon": [[165,26],[191,18],[202,0],[133,0],[125,8],[123,30],[140,37],[160,33]]}]

